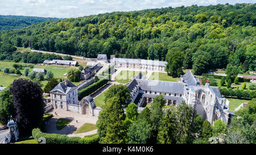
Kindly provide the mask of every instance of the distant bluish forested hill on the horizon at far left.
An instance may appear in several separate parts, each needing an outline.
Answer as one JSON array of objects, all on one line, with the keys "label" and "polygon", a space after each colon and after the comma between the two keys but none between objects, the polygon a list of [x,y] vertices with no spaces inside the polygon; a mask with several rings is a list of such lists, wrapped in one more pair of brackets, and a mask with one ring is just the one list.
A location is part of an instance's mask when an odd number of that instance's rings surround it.
[{"label": "distant bluish forested hill on the horizon at far left", "polygon": [[31,24],[42,23],[48,20],[56,20],[57,18],[43,18],[36,16],[16,16],[16,15],[0,15],[0,31],[13,30],[14,28],[23,28]]}]

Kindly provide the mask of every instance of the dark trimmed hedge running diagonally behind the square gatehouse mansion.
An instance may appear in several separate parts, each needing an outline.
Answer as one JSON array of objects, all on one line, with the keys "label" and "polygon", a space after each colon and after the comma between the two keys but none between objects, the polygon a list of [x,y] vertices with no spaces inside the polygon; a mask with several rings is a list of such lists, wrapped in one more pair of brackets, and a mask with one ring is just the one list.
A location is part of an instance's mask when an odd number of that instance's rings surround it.
[{"label": "dark trimmed hedge running diagonally behind the square gatehouse mansion", "polygon": [[108,83],[108,79],[100,79],[97,82],[94,82],[92,85],[86,87],[85,89],[82,89],[78,92],[79,100],[82,98],[92,94],[94,91],[98,90],[100,87],[104,86],[106,83]]}]

